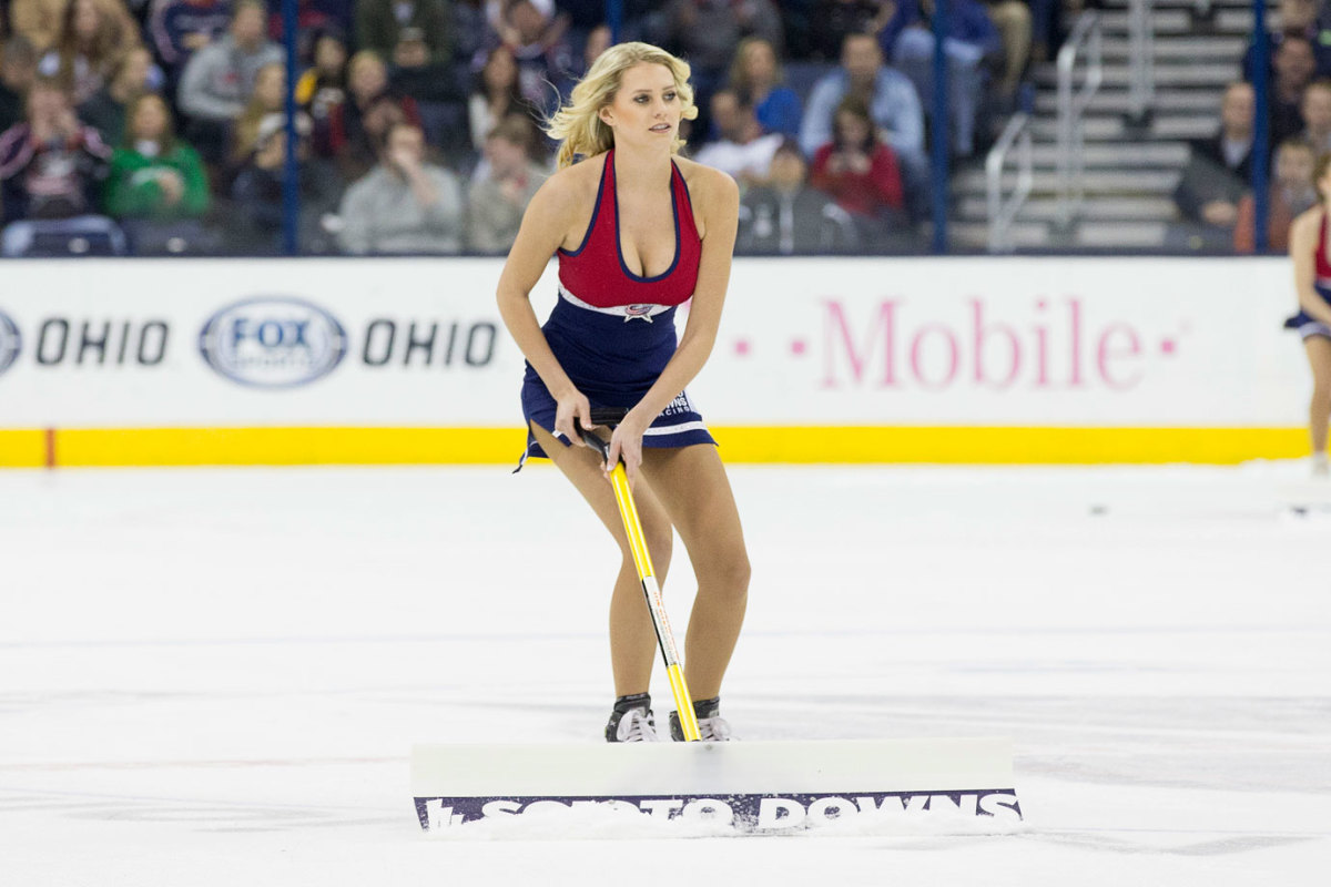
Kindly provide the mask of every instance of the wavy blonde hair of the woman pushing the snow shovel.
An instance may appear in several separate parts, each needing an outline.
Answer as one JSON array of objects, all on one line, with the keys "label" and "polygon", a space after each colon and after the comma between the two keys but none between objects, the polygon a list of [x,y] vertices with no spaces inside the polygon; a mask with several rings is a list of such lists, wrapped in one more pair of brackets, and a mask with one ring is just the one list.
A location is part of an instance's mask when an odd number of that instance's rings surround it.
[{"label": "wavy blonde hair of the woman pushing the snow shovel", "polygon": [[[697,117],[687,61],[647,43],[616,44],[596,56],[587,76],[574,86],[568,104],[546,121],[546,133],[559,142],[560,169],[571,166],[579,154],[595,157],[615,146],[615,130],[600,118],[600,109],[615,100],[624,72],[643,63],[668,68],[679,92],[680,120]],[[677,153],[683,146],[684,141],[676,137],[671,150]]]}]

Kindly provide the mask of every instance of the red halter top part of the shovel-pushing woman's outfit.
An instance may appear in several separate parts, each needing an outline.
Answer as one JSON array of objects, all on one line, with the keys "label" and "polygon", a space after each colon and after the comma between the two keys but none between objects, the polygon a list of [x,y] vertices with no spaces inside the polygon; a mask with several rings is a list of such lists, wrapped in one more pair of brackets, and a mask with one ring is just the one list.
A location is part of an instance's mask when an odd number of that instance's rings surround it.
[{"label": "red halter top part of the shovel-pushing woman's outfit", "polygon": [[606,168],[596,190],[596,207],[587,234],[576,250],[559,249],[559,283],[566,295],[596,309],[623,306],[675,306],[693,295],[703,241],[693,223],[688,185],[671,161],[671,207],[675,215],[675,261],[656,277],[628,270],[619,245],[619,195],[615,190],[615,152],[606,153]]}]

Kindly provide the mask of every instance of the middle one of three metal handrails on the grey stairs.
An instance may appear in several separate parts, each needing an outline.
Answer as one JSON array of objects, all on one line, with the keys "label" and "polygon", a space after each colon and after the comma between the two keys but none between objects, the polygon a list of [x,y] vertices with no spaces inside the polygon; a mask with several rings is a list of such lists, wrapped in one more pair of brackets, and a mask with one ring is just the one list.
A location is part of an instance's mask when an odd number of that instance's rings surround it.
[{"label": "middle one of three metal handrails on the grey stairs", "polygon": [[[1073,90],[1077,60],[1086,57],[1086,74],[1079,90]],[[1086,126],[1082,114],[1105,80],[1105,55],[1099,15],[1094,11],[1077,17],[1071,35],[1058,51],[1058,210],[1063,225],[1081,211],[1086,189],[1082,177],[1086,160]]]}]

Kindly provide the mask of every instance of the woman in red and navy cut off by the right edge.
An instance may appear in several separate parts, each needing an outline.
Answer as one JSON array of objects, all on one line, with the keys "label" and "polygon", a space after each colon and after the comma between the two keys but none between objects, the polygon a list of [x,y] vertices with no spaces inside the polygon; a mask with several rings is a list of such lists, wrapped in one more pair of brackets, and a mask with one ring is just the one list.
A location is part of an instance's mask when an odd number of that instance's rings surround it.
[{"label": "woman in red and navy cut off by the right edge", "polygon": [[1284,322],[1303,336],[1312,370],[1308,432],[1312,438],[1312,473],[1327,476],[1327,423],[1331,422],[1331,253],[1327,250],[1327,202],[1331,201],[1331,154],[1312,168],[1320,203],[1290,226],[1294,291],[1299,313]]}]

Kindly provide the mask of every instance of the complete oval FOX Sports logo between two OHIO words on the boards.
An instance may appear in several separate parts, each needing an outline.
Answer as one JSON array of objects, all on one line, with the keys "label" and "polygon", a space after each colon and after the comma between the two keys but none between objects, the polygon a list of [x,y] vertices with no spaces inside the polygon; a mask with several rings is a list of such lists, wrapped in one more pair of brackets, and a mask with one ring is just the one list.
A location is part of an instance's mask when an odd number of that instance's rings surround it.
[{"label": "complete oval FOX Sports logo between two OHIO words on the boards", "polygon": [[331,372],[346,355],[346,331],[317,305],[261,297],[214,314],[198,347],[218,374],[260,388],[291,388]]}]

